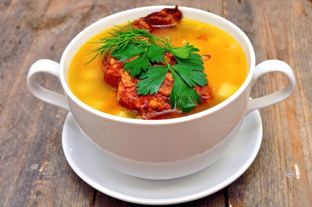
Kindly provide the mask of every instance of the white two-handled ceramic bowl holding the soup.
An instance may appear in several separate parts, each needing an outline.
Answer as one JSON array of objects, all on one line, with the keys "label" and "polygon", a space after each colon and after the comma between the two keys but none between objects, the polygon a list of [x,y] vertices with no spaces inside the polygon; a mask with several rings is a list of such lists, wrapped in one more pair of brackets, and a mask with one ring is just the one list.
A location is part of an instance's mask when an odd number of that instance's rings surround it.
[{"label": "white two-handled ceramic bowl holding the soup", "polygon": [[[81,130],[103,149],[103,159],[126,174],[147,179],[172,179],[195,173],[213,162],[231,144],[245,114],[281,102],[296,87],[292,69],[278,60],[257,66],[247,36],[228,20],[199,9],[179,7],[183,16],[214,25],[234,37],[243,48],[248,75],[238,91],[224,102],[205,111],[165,120],[140,120],[98,111],[81,102],[68,86],[68,68],[78,49],[96,34],[114,25],[135,20],[168,6],[148,6],[122,11],[100,19],[81,31],[65,49],[60,64],[39,60],[28,73],[29,90],[39,99],[70,110]],[[281,72],[289,84],[283,90],[249,101],[252,84],[264,73]],[[43,89],[35,73],[47,72],[60,78],[65,96]]]}]

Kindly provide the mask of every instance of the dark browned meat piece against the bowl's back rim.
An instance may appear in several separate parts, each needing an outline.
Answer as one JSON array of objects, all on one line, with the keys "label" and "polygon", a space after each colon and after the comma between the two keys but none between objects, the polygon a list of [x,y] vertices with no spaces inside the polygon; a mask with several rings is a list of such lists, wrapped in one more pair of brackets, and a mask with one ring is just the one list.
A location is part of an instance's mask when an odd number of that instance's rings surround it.
[{"label": "dark browned meat piece against the bowl's back rim", "polygon": [[182,18],[182,11],[176,5],[174,8],[164,8],[135,20],[132,25],[136,28],[146,29],[153,32],[156,27],[174,26]]}]

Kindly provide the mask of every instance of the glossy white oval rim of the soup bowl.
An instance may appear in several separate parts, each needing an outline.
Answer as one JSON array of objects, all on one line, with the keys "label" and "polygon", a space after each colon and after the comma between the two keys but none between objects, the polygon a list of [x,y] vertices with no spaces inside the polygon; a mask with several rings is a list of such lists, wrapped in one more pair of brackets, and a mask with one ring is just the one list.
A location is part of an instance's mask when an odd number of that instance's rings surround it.
[{"label": "glossy white oval rim of the soup bowl", "polygon": [[[92,29],[93,27],[96,27],[98,24],[100,24],[103,21],[107,21],[110,19],[115,19],[120,15],[125,15],[129,12],[134,12],[134,11],[145,11],[146,9],[162,9],[162,8],[169,8],[169,7],[174,7],[174,6],[168,6],[168,5],[156,5],[156,6],[144,6],[144,7],[138,7],[138,8],[132,8],[132,9],[128,9],[128,10],[124,10],[109,16],[106,16],[104,18],[99,19],[98,21],[90,24],[88,27],[84,28],[82,31],[80,31],[71,41],[70,43],[67,45],[66,49],[64,50],[61,60],[60,60],[60,81],[63,87],[63,90],[65,92],[66,98],[68,99],[68,97],[73,100],[76,104],[78,104],[81,108],[93,113],[94,115],[98,116],[98,117],[102,117],[105,119],[109,119],[111,121],[115,121],[115,122],[123,122],[123,123],[130,123],[130,124],[139,124],[139,125],[163,125],[163,124],[176,124],[176,123],[181,123],[181,122],[187,122],[187,121],[192,121],[198,118],[202,118],[203,116],[215,113],[216,111],[222,109],[223,107],[227,106],[228,104],[230,104],[231,102],[233,102],[237,97],[239,97],[244,91],[245,89],[249,86],[250,82],[252,81],[253,75],[254,75],[254,71],[255,71],[255,52],[253,49],[253,46],[249,40],[249,38],[247,37],[247,35],[238,27],[236,26],[234,23],[230,22],[229,20],[218,16],[216,14],[213,14],[211,12],[208,11],[204,11],[201,9],[197,9],[197,8],[191,8],[191,7],[185,7],[185,6],[178,6],[178,8],[180,10],[183,11],[190,11],[190,12],[199,12],[201,14],[204,15],[208,15],[211,16],[213,18],[217,18],[221,21],[224,21],[224,23],[228,24],[230,27],[232,27],[232,29],[235,30],[236,33],[238,33],[240,36],[243,37],[244,41],[246,42],[247,48],[249,50],[249,54],[250,54],[250,67],[249,67],[249,72],[248,75],[244,81],[244,83],[240,86],[240,88],[232,95],[230,96],[228,99],[226,99],[225,101],[211,107],[208,108],[206,110],[194,113],[194,114],[190,114],[187,116],[182,116],[182,117],[177,117],[177,118],[170,118],[170,119],[153,119],[153,120],[147,120],[147,119],[134,119],[134,118],[127,118],[127,117],[121,117],[121,116],[117,116],[117,115],[112,115],[109,113],[105,113],[102,112],[100,110],[97,110],[89,105],[87,105],[86,103],[83,103],[82,101],[80,101],[69,89],[69,86],[65,80],[64,77],[64,61],[65,61],[65,57],[67,56],[67,53],[69,52],[70,48],[76,43],[76,41],[81,38],[81,36],[86,33],[87,31],[89,31],[90,29]],[[122,22],[120,22],[122,23]],[[94,34],[96,35],[96,34]],[[246,51],[245,51],[246,52]],[[247,58],[247,55],[246,55]],[[246,109],[245,109],[246,110]]]}]

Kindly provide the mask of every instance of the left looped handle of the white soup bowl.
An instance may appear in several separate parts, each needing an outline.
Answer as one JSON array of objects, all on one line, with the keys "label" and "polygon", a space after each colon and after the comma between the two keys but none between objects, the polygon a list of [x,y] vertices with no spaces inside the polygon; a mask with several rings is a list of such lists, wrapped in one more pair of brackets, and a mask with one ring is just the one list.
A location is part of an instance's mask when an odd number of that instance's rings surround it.
[{"label": "left looped handle of the white soup bowl", "polygon": [[38,99],[60,106],[70,111],[64,95],[55,93],[40,86],[35,80],[36,73],[49,73],[60,78],[60,64],[52,60],[38,60],[30,67],[27,75],[27,86],[29,91]]}]

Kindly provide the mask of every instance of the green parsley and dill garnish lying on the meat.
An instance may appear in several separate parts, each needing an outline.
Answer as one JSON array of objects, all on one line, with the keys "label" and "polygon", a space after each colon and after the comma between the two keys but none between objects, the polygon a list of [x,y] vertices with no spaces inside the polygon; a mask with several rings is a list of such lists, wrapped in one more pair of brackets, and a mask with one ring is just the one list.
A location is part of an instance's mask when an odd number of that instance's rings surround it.
[{"label": "green parsley and dill garnish lying on the meat", "polygon": [[[139,95],[156,94],[168,71],[173,77],[172,91],[169,97],[171,107],[177,106],[184,112],[195,108],[200,103],[200,96],[192,88],[207,85],[206,74],[203,72],[203,62],[197,53],[199,49],[189,43],[182,47],[173,47],[171,38],[159,38],[147,30],[133,27],[116,26],[109,32],[111,36],[100,39],[99,45],[88,54],[104,58],[108,52],[120,59],[121,62],[137,56],[134,60],[124,63],[124,70],[134,78],[141,79],[136,85]],[[170,65],[164,59],[164,53],[170,52],[178,64]],[[152,66],[154,63],[164,62],[165,66]],[[87,63],[87,64],[88,64]]]}]

